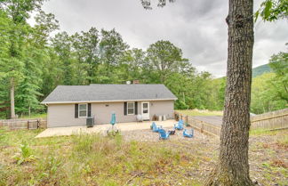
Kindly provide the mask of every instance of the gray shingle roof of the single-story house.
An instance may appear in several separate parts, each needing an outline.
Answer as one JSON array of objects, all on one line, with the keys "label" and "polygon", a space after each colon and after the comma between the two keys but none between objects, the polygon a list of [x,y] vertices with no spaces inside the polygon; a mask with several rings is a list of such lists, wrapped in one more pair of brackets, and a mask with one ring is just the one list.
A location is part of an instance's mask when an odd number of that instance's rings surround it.
[{"label": "gray shingle roof of the single-story house", "polygon": [[59,85],[42,103],[177,100],[164,85]]}]

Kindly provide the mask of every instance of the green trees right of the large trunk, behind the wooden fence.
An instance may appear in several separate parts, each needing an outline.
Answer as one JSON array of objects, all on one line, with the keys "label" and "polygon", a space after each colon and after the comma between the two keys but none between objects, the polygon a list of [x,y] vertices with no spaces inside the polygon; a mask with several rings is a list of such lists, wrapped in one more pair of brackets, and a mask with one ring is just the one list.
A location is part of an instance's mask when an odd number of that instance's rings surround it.
[{"label": "green trees right of the large trunk, behind the wooden fence", "polygon": [[269,67],[274,73],[263,74],[252,81],[252,112],[264,113],[284,109],[288,104],[288,54],[273,55]]}]

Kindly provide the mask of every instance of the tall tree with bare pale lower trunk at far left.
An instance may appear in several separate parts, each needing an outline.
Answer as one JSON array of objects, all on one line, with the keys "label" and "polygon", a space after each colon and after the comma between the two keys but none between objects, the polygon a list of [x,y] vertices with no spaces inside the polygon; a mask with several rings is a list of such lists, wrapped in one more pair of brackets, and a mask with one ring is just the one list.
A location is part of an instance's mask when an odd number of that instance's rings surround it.
[{"label": "tall tree with bare pale lower trunk at far left", "polygon": [[15,86],[23,77],[24,63],[22,61],[23,43],[27,35],[27,20],[29,13],[39,8],[43,0],[4,0],[0,2],[0,7],[11,18],[11,31],[9,33],[9,54],[6,58],[6,76],[10,79],[10,101],[11,117],[15,117],[14,91]]}]

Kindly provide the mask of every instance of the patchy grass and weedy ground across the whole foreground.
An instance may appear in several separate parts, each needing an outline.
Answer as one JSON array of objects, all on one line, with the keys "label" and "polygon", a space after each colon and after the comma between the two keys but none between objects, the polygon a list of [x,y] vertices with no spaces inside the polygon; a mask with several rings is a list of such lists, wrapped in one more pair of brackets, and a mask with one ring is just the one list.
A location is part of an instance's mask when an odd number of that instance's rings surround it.
[{"label": "patchy grass and weedy ground across the whole foreground", "polygon": [[[203,185],[219,140],[136,142],[120,135],[35,139],[0,128],[0,185]],[[207,140],[208,139],[208,140]],[[287,185],[287,132],[252,134],[252,179]]]}]

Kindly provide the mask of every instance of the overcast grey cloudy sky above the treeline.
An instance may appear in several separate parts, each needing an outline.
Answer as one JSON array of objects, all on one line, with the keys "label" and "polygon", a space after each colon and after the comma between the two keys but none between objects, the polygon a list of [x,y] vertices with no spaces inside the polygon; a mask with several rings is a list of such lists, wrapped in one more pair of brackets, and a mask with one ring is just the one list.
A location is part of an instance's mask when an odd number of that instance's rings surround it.
[{"label": "overcast grey cloudy sky above the treeline", "polygon": [[[156,5],[156,0],[151,0]],[[254,9],[261,0],[255,0]],[[60,30],[73,34],[91,27],[116,28],[131,47],[146,50],[157,40],[180,47],[198,70],[214,77],[226,75],[228,0],[176,0],[164,8],[144,10],[140,0],[50,0],[45,12],[60,21]],[[288,21],[259,21],[255,25],[253,67],[268,63],[269,57],[287,51]]]}]

